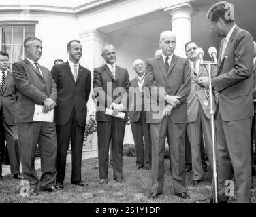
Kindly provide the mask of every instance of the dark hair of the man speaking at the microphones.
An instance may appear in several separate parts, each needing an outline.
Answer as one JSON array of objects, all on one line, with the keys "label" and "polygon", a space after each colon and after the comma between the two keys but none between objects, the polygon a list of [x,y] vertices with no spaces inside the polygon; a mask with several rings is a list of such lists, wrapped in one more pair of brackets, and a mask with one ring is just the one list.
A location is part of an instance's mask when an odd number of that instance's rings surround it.
[{"label": "dark hair of the man speaking at the microphones", "polygon": [[219,1],[210,7],[206,17],[212,22],[218,22],[221,18],[226,24],[234,23],[234,5],[227,1]]}]

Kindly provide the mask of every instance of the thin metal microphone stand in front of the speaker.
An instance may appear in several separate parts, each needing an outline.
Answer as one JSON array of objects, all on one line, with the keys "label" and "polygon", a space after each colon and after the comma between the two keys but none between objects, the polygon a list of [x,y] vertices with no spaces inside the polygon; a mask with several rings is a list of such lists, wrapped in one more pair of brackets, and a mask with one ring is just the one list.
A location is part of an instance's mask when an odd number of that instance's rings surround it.
[{"label": "thin metal microphone stand in front of the speaker", "polygon": [[214,62],[211,61],[201,61],[201,66],[208,66],[209,73],[209,94],[210,94],[210,125],[212,130],[212,162],[213,162],[213,179],[214,179],[214,201],[218,203],[218,194],[217,194],[217,166],[216,166],[216,155],[215,155],[215,124],[214,124],[214,111],[213,111],[213,99],[212,99],[212,74],[211,74],[211,66],[217,65],[216,60]]}]

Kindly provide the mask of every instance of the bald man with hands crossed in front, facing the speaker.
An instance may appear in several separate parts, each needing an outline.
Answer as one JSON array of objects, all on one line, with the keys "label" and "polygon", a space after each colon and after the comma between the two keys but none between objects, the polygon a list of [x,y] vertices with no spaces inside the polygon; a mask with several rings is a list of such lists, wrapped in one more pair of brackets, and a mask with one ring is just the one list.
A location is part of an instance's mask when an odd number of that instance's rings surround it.
[{"label": "bald man with hands crossed in front, facing the speaker", "polygon": [[[170,170],[174,193],[189,199],[185,187],[186,100],[191,89],[189,61],[174,54],[176,36],[172,31],[160,35],[162,54],[146,62],[145,86],[150,89],[150,123],[152,140],[152,187],[150,199],[163,191],[165,137],[170,149]],[[155,106],[159,104],[159,108]]]}]

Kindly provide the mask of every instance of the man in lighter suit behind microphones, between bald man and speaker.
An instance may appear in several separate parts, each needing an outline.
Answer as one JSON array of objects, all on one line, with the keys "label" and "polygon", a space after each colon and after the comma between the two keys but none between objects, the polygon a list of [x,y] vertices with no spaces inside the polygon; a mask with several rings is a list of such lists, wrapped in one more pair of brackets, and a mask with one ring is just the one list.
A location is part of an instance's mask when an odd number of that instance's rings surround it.
[{"label": "man in lighter suit behind microphones, between bald man and speaker", "polygon": [[[204,179],[201,160],[201,140],[204,135],[206,152],[212,168],[212,134],[210,128],[210,94],[209,89],[197,84],[199,77],[208,77],[208,68],[200,66],[197,56],[198,46],[189,41],[185,44],[186,56],[191,67],[191,91],[187,98],[187,135],[191,145],[193,180],[191,186],[199,184]],[[201,49],[202,51],[202,49]],[[202,54],[202,53],[200,53]],[[217,73],[216,66],[212,67],[212,77]],[[213,102],[213,108],[215,104]]]}]

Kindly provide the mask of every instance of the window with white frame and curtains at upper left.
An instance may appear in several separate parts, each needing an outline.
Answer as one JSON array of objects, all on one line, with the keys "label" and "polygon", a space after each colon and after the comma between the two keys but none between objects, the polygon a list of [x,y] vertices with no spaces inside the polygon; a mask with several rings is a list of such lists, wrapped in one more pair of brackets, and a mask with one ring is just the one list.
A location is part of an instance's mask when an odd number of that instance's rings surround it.
[{"label": "window with white frame and curtains at upper left", "polygon": [[35,26],[0,26],[0,50],[9,54],[10,64],[23,60],[27,37],[35,37]]}]

